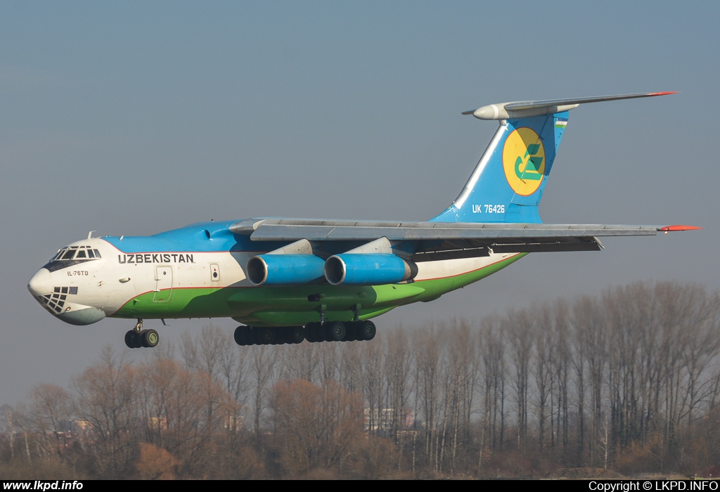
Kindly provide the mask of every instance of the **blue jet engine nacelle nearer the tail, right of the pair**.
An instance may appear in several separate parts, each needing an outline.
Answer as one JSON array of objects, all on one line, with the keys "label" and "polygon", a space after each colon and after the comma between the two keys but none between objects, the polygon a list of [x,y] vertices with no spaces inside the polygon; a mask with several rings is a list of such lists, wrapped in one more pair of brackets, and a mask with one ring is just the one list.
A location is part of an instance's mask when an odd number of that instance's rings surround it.
[{"label": "blue jet engine nacelle nearer the tail, right of the pair", "polygon": [[410,280],[418,266],[390,253],[343,253],[325,261],[325,279],[333,286],[371,286]]}]

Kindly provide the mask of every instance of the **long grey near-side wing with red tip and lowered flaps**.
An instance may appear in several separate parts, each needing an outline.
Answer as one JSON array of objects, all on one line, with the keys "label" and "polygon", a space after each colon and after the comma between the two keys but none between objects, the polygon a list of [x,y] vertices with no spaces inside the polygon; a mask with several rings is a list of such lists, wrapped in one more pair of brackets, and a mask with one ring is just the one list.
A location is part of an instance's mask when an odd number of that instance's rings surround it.
[{"label": "long grey near-side wing with red tip and lowered flaps", "polygon": [[603,224],[508,224],[468,222],[373,222],[318,219],[248,219],[230,227],[253,241],[369,242],[386,237],[414,261],[487,256],[490,252],[593,251],[598,237],[654,236],[692,226]]}]

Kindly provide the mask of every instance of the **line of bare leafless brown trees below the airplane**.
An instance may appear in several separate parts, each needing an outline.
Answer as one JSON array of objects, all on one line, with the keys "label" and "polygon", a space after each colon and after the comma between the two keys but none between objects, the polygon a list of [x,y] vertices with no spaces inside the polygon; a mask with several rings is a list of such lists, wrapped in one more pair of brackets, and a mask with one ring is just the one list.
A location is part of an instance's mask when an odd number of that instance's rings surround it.
[{"label": "line of bare leafless brown trees below the airplane", "polygon": [[720,473],[720,296],[600,296],[379,333],[238,347],[107,348],[71,386],[1,411],[4,478]]}]

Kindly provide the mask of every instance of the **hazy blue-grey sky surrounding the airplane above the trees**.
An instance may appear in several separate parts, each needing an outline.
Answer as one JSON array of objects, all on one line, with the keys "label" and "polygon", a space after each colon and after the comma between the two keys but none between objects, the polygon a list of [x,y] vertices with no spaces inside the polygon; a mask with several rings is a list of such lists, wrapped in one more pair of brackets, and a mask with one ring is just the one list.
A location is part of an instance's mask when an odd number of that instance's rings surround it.
[{"label": "hazy blue-grey sky surrounding the airplane above the trees", "polygon": [[[59,247],[207,219],[428,219],[497,126],[461,111],[490,103],[680,91],[571,111],[541,216],[706,229],[529,255],[379,329],[638,280],[719,288],[719,18],[716,1],[0,0],[0,404],[129,350],[132,320],[73,327],[32,299]],[[145,327],[163,343],[204,323]]]}]

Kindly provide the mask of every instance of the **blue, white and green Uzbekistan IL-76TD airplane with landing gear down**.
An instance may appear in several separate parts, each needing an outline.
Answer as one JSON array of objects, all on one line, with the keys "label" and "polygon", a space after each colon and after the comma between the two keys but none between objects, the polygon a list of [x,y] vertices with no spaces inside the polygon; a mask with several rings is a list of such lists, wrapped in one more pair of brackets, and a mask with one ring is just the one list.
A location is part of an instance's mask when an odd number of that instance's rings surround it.
[{"label": "blue, white and green Uzbekistan IL-76TD airplane with landing gear down", "polygon": [[459,196],[427,222],[258,217],[148,237],[105,236],[61,248],[30,279],[63,322],[136,319],[130,348],[155,347],[145,319],[230,317],[238,345],[363,341],[370,321],[480,281],[530,252],[598,251],[600,237],[683,225],[543,224],[538,206],[581,104],[675,94],[513,101],[462,114],[499,127]]}]

